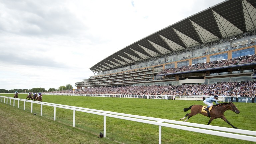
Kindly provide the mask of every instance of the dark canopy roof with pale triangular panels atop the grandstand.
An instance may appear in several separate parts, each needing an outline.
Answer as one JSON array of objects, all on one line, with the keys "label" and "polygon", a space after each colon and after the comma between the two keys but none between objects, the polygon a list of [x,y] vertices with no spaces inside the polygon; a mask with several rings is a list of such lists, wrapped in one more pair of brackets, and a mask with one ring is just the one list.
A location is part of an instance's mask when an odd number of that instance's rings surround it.
[{"label": "dark canopy roof with pale triangular panels atop the grandstand", "polygon": [[193,51],[244,33],[256,33],[256,0],[226,0],[132,43],[90,70],[98,73]]}]

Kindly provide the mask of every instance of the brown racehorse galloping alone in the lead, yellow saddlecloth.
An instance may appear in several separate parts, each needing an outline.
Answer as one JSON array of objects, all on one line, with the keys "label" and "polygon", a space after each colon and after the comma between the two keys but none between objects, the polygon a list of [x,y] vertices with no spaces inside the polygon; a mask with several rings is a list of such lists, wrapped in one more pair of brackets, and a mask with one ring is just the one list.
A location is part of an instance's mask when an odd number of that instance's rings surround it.
[{"label": "brown racehorse galloping alone in the lead, yellow saddlecloth", "polygon": [[[189,108],[184,108],[184,112],[188,111],[191,109],[191,113],[186,114],[183,118],[181,118],[180,120],[185,119],[187,116],[188,118],[185,120],[185,122],[192,116],[200,113],[204,116],[208,116],[207,112],[202,112],[202,105],[192,105]],[[237,127],[233,126],[224,116],[224,112],[227,110],[232,110],[233,112],[235,112],[236,114],[239,114],[240,111],[237,109],[237,107],[232,103],[232,102],[225,102],[225,103],[220,103],[218,105],[213,105],[212,109],[210,110],[210,120],[208,122],[207,125],[209,125],[212,120],[216,119],[216,118],[221,118],[223,119],[225,122],[227,122],[229,125],[231,125],[233,128],[238,129]]]}]

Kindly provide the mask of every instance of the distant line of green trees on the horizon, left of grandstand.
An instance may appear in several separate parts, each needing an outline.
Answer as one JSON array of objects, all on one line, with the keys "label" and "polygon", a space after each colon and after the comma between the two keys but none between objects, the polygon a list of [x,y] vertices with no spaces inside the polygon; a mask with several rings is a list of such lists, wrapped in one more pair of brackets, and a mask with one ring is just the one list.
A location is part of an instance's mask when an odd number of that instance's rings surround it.
[{"label": "distant line of green trees on the horizon, left of grandstand", "polygon": [[38,92],[52,92],[52,91],[61,91],[61,90],[70,90],[70,89],[73,89],[73,86],[71,84],[67,84],[66,86],[60,86],[57,89],[49,88],[48,90],[45,90],[45,88],[12,89],[12,90],[0,89],[0,93],[14,93],[15,91],[18,91],[18,93],[25,93],[25,92],[38,93]]}]

